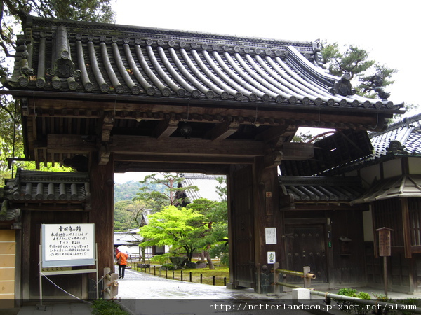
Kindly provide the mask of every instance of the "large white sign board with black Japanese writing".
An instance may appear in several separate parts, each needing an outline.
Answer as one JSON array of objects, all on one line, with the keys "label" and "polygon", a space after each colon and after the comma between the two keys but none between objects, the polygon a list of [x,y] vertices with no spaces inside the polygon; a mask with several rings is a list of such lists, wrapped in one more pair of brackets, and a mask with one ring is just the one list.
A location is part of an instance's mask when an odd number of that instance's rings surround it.
[{"label": "large white sign board with black Japanese writing", "polygon": [[42,267],[95,265],[93,223],[43,224]]}]

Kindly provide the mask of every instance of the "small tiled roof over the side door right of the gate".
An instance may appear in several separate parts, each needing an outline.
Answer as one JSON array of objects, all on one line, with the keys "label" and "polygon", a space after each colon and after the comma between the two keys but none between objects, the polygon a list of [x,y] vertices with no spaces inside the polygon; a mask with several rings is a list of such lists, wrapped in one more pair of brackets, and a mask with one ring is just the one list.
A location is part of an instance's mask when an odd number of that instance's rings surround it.
[{"label": "small tiled roof over the side door right of the gate", "polygon": [[361,179],[325,176],[279,176],[283,195],[294,202],[351,202],[364,192]]}]

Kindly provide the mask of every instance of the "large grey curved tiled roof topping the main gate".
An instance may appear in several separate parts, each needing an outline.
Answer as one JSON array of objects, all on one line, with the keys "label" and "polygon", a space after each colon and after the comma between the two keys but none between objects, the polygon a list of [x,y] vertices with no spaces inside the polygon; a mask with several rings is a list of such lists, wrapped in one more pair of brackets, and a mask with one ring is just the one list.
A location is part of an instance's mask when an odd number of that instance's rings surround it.
[{"label": "large grey curved tiled roof topping the main gate", "polygon": [[319,66],[320,50],[312,42],[33,17],[25,29],[13,76],[3,78],[11,90],[353,111],[396,112],[401,106],[342,92],[349,81]]}]

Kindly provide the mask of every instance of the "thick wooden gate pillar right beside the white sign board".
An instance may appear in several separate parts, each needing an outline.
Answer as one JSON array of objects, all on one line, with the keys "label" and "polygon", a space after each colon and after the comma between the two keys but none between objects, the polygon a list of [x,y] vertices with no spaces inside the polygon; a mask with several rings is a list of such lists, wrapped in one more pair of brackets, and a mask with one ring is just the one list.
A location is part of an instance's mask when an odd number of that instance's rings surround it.
[{"label": "thick wooden gate pillar right beside the white sign board", "polygon": [[98,244],[98,276],[105,267],[114,267],[114,156],[106,165],[99,165],[98,153],[89,159],[91,212],[89,223],[95,223]]}]

